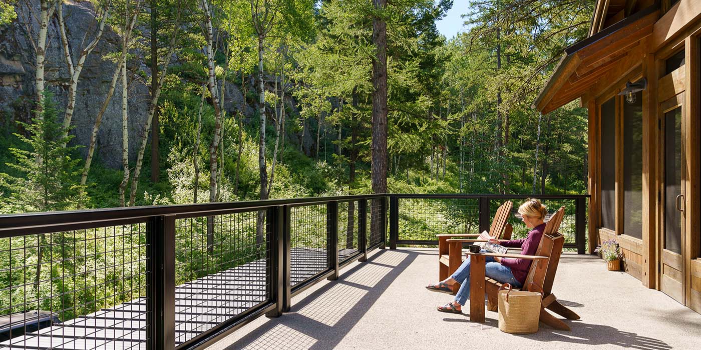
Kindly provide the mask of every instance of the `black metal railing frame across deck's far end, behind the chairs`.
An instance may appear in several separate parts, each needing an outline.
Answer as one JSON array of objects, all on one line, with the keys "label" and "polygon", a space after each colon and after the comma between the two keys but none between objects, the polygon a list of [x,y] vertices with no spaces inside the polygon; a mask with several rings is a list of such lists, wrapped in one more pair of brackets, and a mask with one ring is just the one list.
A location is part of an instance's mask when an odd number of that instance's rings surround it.
[{"label": "black metal railing frame across deck's far end, behind the chairs", "polygon": [[[399,202],[402,199],[412,200],[478,200],[478,221],[479,232],[489,230],[492,221],[490,211],[491,200],[525,200],[529,197],[538,197],[540,200],[573,200],[575,204],[575,243],[565,244],[564,248],[576,248],[578,254],[584,254],[586,250],[587,240],[587,198],[590,195],[491,195],[491,194],[433,194],[433,195],[414,195],[414,194],[390,194],[389,197],[389,245],[390,249],[397,248],[397,244],[404,245],[428,245],[435,246],[438,244],[437,239],[421,240],[421,239],[400,239],[399,237],[399,221],[400,221],[400,206]],[[516,204],[515,204],[516,205]]]}]

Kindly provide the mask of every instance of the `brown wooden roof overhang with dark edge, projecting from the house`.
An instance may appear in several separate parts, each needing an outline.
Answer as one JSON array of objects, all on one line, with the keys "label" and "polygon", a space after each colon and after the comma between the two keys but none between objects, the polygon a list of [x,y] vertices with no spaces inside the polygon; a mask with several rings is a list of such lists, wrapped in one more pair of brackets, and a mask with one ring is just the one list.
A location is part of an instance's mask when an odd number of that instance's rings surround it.
[{"label": "brown wooden roof overhang with dark edge, projecting from the house", "polygon": [[532,107],[550,113],[594,85],[625,76],[641,64],[647,53],[644,39],[659,16],[658,8],[651,6],[566,48]]}]

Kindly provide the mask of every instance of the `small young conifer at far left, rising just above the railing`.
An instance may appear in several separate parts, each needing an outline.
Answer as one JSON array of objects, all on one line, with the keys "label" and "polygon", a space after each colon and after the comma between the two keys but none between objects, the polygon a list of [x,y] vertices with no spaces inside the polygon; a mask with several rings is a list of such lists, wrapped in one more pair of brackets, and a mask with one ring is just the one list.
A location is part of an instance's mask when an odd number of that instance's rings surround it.
[{"label": "small young conifer at far left, rising just above the railing", "polygon": [[50,92],[44,94],[41,113],[32,123],[18,122],[29,136],[15,134],[28,149],[10,148],[15,162],[8,167],[20,176],[0,174],[4,212],[52,211],[71,209],[79,193],[79,160],[72,153],[79,146],[67,146],[73,136],[63,136],[62,123]]}]

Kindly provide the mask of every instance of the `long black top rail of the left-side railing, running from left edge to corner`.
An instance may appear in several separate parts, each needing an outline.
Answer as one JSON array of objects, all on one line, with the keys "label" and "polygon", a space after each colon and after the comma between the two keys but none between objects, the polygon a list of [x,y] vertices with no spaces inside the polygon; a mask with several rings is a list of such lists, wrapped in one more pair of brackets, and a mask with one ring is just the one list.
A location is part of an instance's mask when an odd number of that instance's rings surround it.
[{"label": "long black top rail of the left-side railing, running from left edge to corner", "polygon": [[232,209],[260,209],[285,204],[312,204],[325,203],[336,200],[371,200],[384,197],[384,194],[374,195],[348,195],[334,197],[307,197],[291,198],[285,200],[254,200],[242,202],[218,202],[199,204],[160,205],[148,207],[126,207],[106,209],[83,209],[75,211],[48,211],[42,213],[3,214],[0,215],[0,235],[4,230],[17,230],[18,228],[36,228],[38,226],[67,225],[71,223],[100,223],[104,221],[117,221],[135,218],[147,218],[149,216],[182,216],[185,214],[212,214],[217,211],[230,211]]}]

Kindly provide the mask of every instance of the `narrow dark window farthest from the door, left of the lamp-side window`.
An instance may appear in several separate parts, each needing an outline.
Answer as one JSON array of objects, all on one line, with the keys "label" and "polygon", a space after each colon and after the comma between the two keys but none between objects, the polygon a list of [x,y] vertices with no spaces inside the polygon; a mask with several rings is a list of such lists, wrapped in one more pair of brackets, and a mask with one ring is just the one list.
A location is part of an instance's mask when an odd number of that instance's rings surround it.
[{"label": "narrow dark window farthest from the door, left of the lamp-side window", "polygon": [[601,104],[601,227],[615,231],[615,97]]}]

